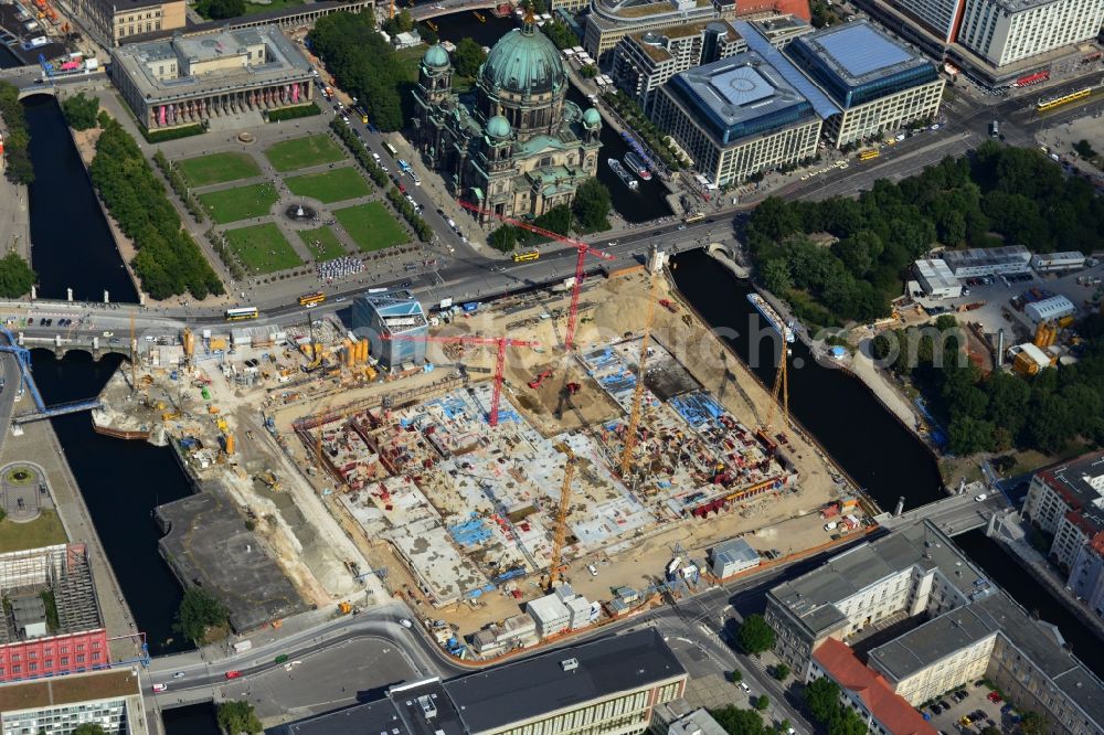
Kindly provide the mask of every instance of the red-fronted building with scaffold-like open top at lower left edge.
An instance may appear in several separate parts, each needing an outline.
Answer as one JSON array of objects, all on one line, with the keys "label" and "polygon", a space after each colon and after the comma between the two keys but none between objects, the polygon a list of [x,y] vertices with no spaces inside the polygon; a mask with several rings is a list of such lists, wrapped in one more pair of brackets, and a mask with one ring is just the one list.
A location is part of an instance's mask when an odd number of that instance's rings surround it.
[{"label": "red-fronted building with scaffold-like open top at lower left edge", "polygon": [[[57,615],[46,615],[47,593]],[[84,544],[0,554],[0,682],[110,665],[107,631]]]}]

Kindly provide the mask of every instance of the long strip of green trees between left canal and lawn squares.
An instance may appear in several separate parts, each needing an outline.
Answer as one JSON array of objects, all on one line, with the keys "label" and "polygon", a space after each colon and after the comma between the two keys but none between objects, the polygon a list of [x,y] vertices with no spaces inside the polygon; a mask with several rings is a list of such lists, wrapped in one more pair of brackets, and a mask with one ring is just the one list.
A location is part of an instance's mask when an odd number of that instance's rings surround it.
[{"label": "long strip of green trees between left canal and lawn squares", "polygon": [[185,291],[197,299],[223,294],[222,281],[181,226],[180,215],[138,143],[117,121],[106,122],[88,174],[119,230],[138,251],[131,265],[142,290],[155,299]]}]

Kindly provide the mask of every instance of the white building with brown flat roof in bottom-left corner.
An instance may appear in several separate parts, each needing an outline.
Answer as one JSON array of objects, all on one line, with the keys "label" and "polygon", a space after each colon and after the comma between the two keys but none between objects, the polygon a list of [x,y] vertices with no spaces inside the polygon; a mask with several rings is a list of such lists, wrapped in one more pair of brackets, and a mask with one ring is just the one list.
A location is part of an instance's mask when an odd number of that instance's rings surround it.
[{"label": "white building with brown flat roof in bottom-left corner", "polygon": [[0,686],[0,735],[71,735],[99,725],[108,735],[148,733],[136,669]]}]

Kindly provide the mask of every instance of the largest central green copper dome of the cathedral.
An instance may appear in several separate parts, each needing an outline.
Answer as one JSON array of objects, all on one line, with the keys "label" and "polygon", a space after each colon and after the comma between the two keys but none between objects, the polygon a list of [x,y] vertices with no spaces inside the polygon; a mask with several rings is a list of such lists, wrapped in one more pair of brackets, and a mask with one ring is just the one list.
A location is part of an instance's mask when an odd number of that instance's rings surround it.
[{"label": "largest central green copper dome of the cathedral", "polygon": [[555,45],[527,24],[499,39],[484,64],[482,79],[491,92],[544,94],[562,89],[567,75]]}]

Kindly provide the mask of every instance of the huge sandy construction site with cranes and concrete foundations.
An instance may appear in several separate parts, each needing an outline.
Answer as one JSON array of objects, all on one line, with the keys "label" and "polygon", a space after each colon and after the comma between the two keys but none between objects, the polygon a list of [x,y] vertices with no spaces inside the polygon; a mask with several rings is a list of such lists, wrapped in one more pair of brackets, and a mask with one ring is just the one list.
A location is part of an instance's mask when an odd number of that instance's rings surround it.
[{"label": "huge sandy construction site with cranes and concrete foundations", "polygon": [[[407,309],[415,331],[367,333],[347,310],[185,332],[139,350],[94,420],[170,444],[217,493],[242,553],[177,540],[167,557],[220,592],[248,564],[280,601],[248,627],[395,595],[471,654],[457,631],[564,583],[572,621],[591,625],[716,582],[704,560],[734,537],[746,571],[868,530],[851,503],[856,523],[826,532],[821,511],[854,490],[792,424],[785,371],[760,384],[652,265],[424,320]],[[388,351],[401,342],[418,351]]]}]

